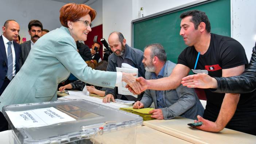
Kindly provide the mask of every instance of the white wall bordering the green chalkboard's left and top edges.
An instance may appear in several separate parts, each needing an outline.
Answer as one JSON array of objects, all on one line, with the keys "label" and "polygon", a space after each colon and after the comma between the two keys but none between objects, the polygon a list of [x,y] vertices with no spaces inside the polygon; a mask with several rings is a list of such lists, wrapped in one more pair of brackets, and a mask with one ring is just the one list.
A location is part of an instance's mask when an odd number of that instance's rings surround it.
[{"label": "white wall bordering the green chalkboard's left and top edges", "polygon": [[112,31],[121,32],[131,46],[131,21],[138,18],[140,7],[148,16],[197,0],[103,0],[103,37]]}]

